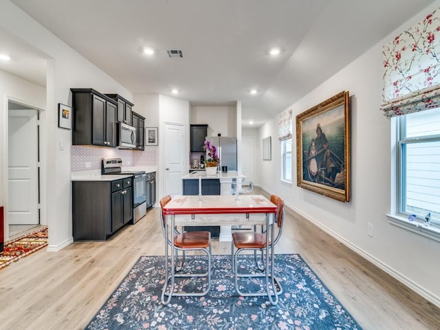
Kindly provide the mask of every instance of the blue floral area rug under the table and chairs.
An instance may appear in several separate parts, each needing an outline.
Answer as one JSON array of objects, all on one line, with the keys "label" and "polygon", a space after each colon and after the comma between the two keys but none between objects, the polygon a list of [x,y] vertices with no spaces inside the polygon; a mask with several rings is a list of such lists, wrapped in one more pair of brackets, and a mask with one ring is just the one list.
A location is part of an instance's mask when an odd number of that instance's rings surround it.
[{"label": "blue floral area rug under the table and chairs", "polygon": [[[186,259],[188,267],[206,267],[206,256]],[[211,287],[206,296],[173,297],[164,306],[160,303],[164,260],[164,256],[140,257],[86,329],[361,329],[298,254],[275,256],[274,271],[283,287],[276,306],[267,296],[236,293],[229,255],[212,256]],[[253,255],[242,256],[240,264],[252,267]],[[239,285],[244,290],[261,283],[247,278]],[[201,285],[198,278],[176,286],[203,289],[206,281]]]}]

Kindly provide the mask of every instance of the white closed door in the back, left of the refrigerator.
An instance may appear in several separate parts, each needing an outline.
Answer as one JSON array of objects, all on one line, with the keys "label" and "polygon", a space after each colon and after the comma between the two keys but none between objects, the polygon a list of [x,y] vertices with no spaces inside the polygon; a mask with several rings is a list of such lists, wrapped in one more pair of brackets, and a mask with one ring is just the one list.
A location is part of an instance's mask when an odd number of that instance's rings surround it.
[{"label": "white closed door in the back, left of the refrigerator", "polygon": [[165,195],[182,193],[181,177],[185,175],[185,127],[165,124]]}]

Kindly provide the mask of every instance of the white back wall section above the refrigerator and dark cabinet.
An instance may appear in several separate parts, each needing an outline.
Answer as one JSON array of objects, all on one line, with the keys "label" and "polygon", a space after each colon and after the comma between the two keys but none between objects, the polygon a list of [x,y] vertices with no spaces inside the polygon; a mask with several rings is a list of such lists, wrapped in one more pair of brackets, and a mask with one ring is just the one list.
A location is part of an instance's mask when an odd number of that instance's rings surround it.
[{"label": "white back wall section above the refrigerator and dark cabinet", "polygon": [[208,124],[208,136],[237,136],[236,107],[192,107],[191,124]]}]

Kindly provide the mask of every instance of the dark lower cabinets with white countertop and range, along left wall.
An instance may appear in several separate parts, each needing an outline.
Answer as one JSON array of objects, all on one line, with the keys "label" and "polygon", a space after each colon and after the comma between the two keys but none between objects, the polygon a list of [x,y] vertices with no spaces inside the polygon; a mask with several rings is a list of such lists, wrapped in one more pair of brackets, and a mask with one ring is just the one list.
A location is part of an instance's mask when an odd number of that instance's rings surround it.
[{"label": "dark lower cabinets with white countertop and range, along left wall", "polygon": [[153,166],[123,167],[113,157],[102,158],[101,167],[72,173],[74,241],[107,240],[124,225],[135,225],[156,202]]}]

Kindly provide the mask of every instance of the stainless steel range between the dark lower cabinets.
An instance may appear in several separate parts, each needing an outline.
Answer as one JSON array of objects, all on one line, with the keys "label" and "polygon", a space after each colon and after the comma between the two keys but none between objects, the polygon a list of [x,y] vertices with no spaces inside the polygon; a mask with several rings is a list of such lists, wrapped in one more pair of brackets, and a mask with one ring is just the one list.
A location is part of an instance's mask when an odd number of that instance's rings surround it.
[{"label": "stainless steel range between the dark lower cabinets", "polygon": [[122,170],[122,159],[102,158],[101,174],[133,175],[133,223],[146,214],[146,173],[144,170]]}]

